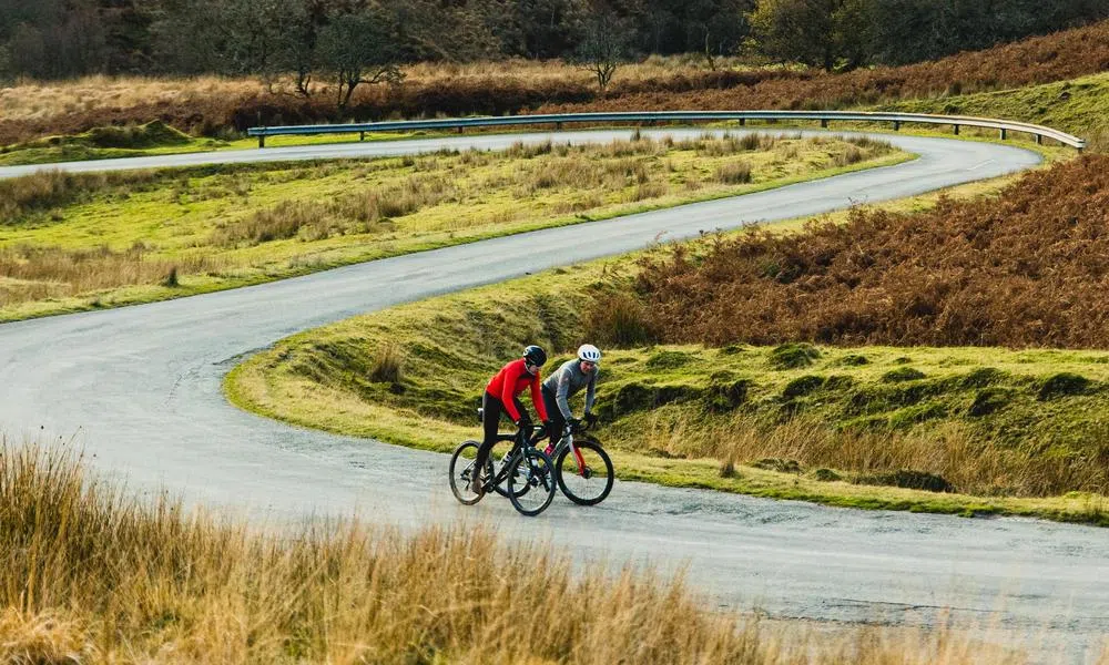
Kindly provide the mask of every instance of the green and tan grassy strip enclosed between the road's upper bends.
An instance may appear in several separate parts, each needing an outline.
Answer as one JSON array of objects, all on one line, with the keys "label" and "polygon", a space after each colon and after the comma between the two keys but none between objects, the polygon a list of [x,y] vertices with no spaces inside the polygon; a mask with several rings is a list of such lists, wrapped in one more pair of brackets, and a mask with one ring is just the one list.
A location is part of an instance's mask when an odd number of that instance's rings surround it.
[{"label": "green and tan grassy strip enclosed between the road's upper bends", "polygon": [[[739,140],[696,143],[207,166],[84,185],[61,178],[51,185],[60,194],[30,197],[0,221],[0,320],[233,288],[912,158],[833,136],[750,150]],[[751,182],[719,176],[736,160],[750,165]],[[90,250],[108,256],[96,264],[82,254]],[[128,253],[150,269],[133,274]],[[165,286],[174,269],[176,286]]]}]

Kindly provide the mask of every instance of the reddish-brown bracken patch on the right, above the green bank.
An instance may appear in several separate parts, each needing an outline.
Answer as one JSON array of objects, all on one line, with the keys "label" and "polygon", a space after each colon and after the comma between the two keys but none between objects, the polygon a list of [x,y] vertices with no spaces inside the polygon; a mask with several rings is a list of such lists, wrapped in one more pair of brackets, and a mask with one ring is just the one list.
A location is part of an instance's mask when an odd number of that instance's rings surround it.
[{"label": "reddish-brown bracken patch on the right, above the green bank", "polygon": [[679,248],[639,276],[644,325],[675,344],[1106,348],[1107,209],[1109,157],[1087,156],[997,198]]}]

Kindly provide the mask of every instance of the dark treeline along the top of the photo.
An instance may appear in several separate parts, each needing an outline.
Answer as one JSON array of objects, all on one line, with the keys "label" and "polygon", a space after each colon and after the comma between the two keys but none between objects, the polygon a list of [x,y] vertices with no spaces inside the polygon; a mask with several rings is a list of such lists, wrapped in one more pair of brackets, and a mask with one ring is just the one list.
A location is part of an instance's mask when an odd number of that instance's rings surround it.
[{"label": "dark treeline along the top of the photo", "polygon": [[743,53],[832,70],[930,60],[1106,16],[1105,0],[0,0],[0,74],[342,79],[354,61],[580,58],[596,35],[610,43],[594,52],[624,59],[699,53],[714,68]]}]

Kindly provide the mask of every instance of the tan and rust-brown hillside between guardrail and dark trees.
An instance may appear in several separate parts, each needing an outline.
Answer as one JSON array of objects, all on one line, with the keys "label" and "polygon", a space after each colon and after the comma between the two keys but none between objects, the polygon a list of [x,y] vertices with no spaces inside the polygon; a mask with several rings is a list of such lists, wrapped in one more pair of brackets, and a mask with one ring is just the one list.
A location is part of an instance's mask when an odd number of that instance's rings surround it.
[{"label": "tan and rust-brown hillside between guardrail and dark trees", "polygon": [[[722,65],[730,63],[723,62]],[[194,135],[255,124],[466,114],[652,109],[834,109],[935,99],[1096,74],[1109,69],[1109,21],[937,62],[842,74],[797,68],[706,70],[652,57],[622,66],[604,95],[561,62],[423,64],[394,86],[364,86],[338,112],[330,95],[274,94],[248,79],[103,79],[0,91],[0,144],[161,120]]]}]

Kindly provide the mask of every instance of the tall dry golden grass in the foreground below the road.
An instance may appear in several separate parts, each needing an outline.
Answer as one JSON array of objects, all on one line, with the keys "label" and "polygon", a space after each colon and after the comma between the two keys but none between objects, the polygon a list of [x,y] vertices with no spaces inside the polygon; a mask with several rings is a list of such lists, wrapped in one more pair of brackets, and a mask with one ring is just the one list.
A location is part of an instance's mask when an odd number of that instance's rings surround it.
[{"label": "tall dry golden grass in the foreground below the road", "polygon": [[948,628],[830,640],[681,580],[574,570],[477,529],[262,533],[0,442],[0,659],[16,663],[1014,663]]}]

